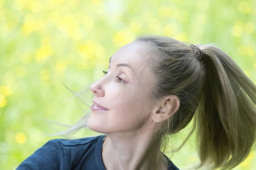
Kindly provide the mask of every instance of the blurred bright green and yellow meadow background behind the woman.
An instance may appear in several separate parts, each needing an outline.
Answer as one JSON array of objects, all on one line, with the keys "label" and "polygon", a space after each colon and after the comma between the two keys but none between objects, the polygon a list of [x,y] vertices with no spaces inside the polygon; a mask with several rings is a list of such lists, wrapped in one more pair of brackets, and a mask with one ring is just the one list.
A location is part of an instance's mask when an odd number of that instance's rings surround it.
[{"label": "blurred bright green and yellow meadow background behind the woman", "polygon": [[[59,138],[44,135],[65,129],[47,120],[73,125],[89,111],[64,85],[88,87],[137,36],[215,43],[256,82],[255,31],[256,0],[0,0],[0,169],[15,169]],[[91,98],[84,94],[88,105]],[[171,159],[181,170],[198,162],[195,137]],[[255,170],[256,155],[235,169]]]}]

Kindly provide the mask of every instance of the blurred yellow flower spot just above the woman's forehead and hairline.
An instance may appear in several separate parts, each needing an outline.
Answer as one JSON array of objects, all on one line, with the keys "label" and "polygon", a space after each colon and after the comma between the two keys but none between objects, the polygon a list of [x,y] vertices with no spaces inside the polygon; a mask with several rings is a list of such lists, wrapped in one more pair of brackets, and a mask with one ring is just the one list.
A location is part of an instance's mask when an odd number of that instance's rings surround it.
[{"label": "blurred yellow flower spot just above the woman's forehead and hairline", "polygon": [[127,29],[117,31],[117,33],[113,37],[114,43],[119,46],[128,44],[133,40],[134,40],[134,35],[131,33],[131,31]]}]

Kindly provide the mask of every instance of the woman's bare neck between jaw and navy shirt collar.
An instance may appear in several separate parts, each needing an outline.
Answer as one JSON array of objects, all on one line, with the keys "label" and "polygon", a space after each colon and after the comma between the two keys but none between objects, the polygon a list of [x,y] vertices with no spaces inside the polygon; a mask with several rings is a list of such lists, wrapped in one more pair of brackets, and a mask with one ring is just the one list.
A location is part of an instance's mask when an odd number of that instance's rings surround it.
[{"label": "woman's bare neck between jaw and navy shirt collar", "polygon": [[[147,132],[108,134],[102,146],[102,159],[107,170],[135,170],[135,167],[136,170],[149,170],[152,163],[157,162],[157,150],[160,150],[157,138],[150,131],[153,132],[147,127]],[[167,169],[168,161],[162,154],[160,161]]]}]

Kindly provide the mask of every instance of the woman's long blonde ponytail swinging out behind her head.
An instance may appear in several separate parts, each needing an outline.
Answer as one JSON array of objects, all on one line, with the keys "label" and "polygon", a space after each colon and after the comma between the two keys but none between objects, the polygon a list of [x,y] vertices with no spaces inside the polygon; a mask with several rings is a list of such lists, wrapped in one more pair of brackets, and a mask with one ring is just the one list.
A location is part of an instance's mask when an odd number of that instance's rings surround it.
[{"label": "woman's long blonde ponytail swinging out behind her head", "polygon": [[201,45],[205,79],[197,125],[201,165],[232,169],[256,141],[256,85],[224,51]]}]

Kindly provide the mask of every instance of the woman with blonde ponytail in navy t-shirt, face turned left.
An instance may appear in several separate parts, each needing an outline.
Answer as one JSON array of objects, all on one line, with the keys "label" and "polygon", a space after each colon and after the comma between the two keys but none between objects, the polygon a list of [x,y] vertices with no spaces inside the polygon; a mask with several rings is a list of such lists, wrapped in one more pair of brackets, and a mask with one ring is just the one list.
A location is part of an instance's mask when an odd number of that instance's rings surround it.
[{"label": "woman with blonde ponytail in navy t-shirt, face turned left", "polygon": [[256,86],[215,46],[140,37],[103,72],[87,127],[105,135],[50,140],[18,170],[178,170],[164,154],[168,135],[194,115],[200,167],[236,167],[255,144]]}]

